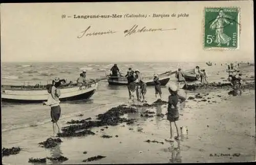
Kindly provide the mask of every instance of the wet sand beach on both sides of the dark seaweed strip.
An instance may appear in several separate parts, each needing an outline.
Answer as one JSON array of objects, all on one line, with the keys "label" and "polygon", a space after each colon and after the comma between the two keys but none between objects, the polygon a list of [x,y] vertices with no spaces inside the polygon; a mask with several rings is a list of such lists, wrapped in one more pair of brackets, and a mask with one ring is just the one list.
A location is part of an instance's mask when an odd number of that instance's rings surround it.
[{"label": "wet sand beach on both sides of the dark seaweed strip", "polygon": [[[246,69],[248,67],[242,71],[245,74],[248,72]],[[251,69],[254,69],[254,66],[250,66],[248,70]],[[67,161],[62,162],[63,164],[255,161],[254,89],[243,89],[242,96],[235,97],[227,94],[231,87],[187,91],[187,98],[190,97],[190,99],[183,104],[184,107],[180,110],[177,124],[179,127],[187,126],[188,131],[180,141],[173,143],[165,141],[170,134],[166,115],[157,116],[157,114],[167,113],[167,104],[152,107],[132,106],[134,103],[127,101],[125,90],[126,88],[111,91],[119,96],[116,102],[105,102],[95,107],[91,106],[90,109],[85,107],[83,111],[72,114],[72,116],[65,117],[64,114],[60,118],[60,125],[63,128],[71,125],[67,124],[71,120],[82,120],[89,117],[94,121],[96,115],[103,114],[112,107],[122,104],[136,108],[136,113],[121,116],[126,119],[136,119],[134,124],[123,122],[117,126],[108,125],[108,128],[105,126],[93,127],[90,130],[95,135],[60,137],[63,142],[51,149],[38,146],[38,143],[46,141],[52,134],[50,122],[5,131],[2,132],[3,147],[21,147],[22,151],[16,155],[4,156],[3,162],[30,164],[28,163],[30,157],[58,157],[60,155],[68,158]],[[169,95],[167,88],[163,88],[162,91],[164,93],[162,100],[167,101]],[[202,98],[195,97],[198,93]],[[148,104],[156,101],[154,88],[148,88],[146,98]],[[135,104],[141,105],[139,102],[135,102]],[[61,105],[62,109],[69,107],[69,104]],[[92,111],[92,109],[94,110]],[[154,112],[154,114],[150,114],[153,117],[141,117],[145,111]],[[79,114],[83,114],[83,116],[77,116]],[[112,137],[103,138],[102,135]],[[147,140],[162,143],[145,142]],[[87,153],[84,154],[84,151]],[[97,155],[105,157],[95,161],[82,162],[84,159]],[[61,162],[47,160],[46,163]]]}]

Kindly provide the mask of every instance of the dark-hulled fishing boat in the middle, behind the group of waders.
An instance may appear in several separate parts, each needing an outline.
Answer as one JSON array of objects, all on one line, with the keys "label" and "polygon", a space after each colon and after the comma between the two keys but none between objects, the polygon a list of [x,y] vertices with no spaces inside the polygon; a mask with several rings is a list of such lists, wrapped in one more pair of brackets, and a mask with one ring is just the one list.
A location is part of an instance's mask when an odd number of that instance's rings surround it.
[{"label": "dark-hulled fishing boat in the middle, behind the group of waders", "polygon": [[[158,74],[158,77],[159,77],[159,81],[161,83],[161,86],[165,86],[168,81],[170,80],[170,75],[176,73],[177,71],[175,72],[172,72],[172,71],[167,71],[165,73],[162,73],[162,74]],[[114,85],[114,86],[125,86],[127,85],[127,78],[124,77],[124,76],[110,76],[110,75],[107,75],[108,76],[108,82],[109,82],[109,85]],[[143,82],[147,85],[147,86],[155,86],[155,82],[153,81],[154,77],[143,77]]]}]

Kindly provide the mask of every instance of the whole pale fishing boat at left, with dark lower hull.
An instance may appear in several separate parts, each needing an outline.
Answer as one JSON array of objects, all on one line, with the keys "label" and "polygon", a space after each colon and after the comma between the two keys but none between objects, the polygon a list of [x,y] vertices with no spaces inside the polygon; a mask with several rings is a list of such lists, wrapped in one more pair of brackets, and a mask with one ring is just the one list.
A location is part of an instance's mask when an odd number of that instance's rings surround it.
[{"label": "whole pale fishing boat at left, with dark lower hull", "polygon": [[[83,86],[75,84],[60,85],[60,101],[89,99],[96,91],[98,81],[91,81]],[[11,86],[2,85],[2,101],[18,103],[35,103],[47,101],[48,91],[46,85],[36,86]]]}]

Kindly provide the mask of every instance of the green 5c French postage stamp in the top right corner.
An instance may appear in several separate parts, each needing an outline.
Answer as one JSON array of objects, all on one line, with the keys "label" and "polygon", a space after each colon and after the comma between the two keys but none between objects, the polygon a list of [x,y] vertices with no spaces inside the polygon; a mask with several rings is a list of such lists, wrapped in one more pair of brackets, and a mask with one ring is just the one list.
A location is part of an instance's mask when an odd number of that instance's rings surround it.
[{"label": "green 5c French postage stamp in the top right corner", "polygon": [[239,34],[239,8],[204,9],[204,49],[238,49]]}]

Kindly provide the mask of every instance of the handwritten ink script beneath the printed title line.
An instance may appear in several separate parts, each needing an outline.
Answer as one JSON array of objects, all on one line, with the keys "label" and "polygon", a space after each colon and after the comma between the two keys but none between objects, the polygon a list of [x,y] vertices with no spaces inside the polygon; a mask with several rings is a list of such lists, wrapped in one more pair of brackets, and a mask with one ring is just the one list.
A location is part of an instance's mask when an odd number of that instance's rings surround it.
[{"label": "handwritten ink script beneath the printed title line", "polygon": [[[90,30],[90,31],[89,31]],[[124,37],[130,36],[132,34],[138,34],[138,33],[144,33],[144,32],[163,32],[163,31],[173,31],[176,30],[174,29],[163,29],[163,28],[158,28],[158,29],[152,29],[152,28],[147,28],[146,26],[142,26],[141,28],[139,25],[135,24],[132,26],[131,29],[124,30]],[[114,30],[108,30],[104,32],[91,32],[91,26],[88,26],[88,28],[84,31],[81,32],[81,35],[77,36],[77,38],[82,38],[82,37],[88,37],[88,36],[101,36],[101,35],[107,35],[107,34],[115,34],[118,31]]]}]

